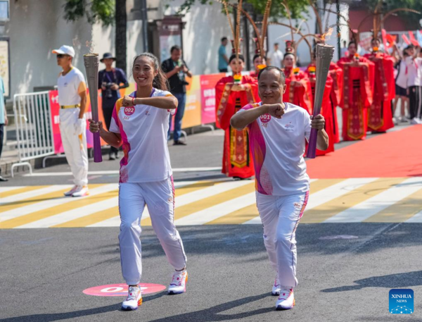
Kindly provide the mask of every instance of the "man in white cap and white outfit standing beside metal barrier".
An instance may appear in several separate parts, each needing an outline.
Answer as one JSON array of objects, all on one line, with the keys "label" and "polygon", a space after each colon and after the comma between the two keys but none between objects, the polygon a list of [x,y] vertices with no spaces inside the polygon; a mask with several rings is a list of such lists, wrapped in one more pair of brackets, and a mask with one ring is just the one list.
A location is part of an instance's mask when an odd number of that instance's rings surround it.
[{"label": "man in white cap and white outfit standing beside metal barrier", "polygon": [[60,135],[66,159],[73,173],[75,186],[65,196],[83,197],[88,191],[87,154],[87,85],[84,74],[72,66],[75,49],[62,46],[53,50],[57,64],[63,70],[58,76],[58,104],[60,105]]}]

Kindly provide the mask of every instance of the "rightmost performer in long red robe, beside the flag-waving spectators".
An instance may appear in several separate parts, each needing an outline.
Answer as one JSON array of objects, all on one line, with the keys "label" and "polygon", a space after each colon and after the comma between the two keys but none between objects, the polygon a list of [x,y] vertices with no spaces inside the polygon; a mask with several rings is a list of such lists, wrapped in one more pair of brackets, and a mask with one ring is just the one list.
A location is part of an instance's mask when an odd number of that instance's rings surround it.
[{"label": "rightmost performer in long red robe, beside the flag-waving spectators", "polygon": [[381,42],[377,38],[371,41],[372,52],[365,54],[375,65],[373,100],[368,109],[368,129],[373,132],[385,132],[393,128],[391,102],[395,99],[394,59],[378,51]]}]

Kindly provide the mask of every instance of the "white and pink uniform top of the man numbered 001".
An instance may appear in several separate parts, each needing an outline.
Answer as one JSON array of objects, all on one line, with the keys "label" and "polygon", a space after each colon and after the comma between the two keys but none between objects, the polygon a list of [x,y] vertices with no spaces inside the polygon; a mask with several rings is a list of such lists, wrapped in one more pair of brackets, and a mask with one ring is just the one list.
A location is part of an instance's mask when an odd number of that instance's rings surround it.
[{"label": "white and pink uniform top of the man numbered 001", "polygon": [[[282,118],[264,114],[248,125],[255,188],[270,196],[289,196],[309,190],[303,154],[305,139],[309,140],[311,133],[311,118],[300,106],[283,104]],[[260,105],[248,104],[238,113]]]}]

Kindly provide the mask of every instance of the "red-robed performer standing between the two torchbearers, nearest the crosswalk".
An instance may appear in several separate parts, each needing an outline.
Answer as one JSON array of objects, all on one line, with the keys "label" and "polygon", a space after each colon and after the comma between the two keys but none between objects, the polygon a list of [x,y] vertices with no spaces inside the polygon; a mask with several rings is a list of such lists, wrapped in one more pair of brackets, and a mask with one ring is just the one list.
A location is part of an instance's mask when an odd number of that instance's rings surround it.
[{"label": "red-robed performer standing between the two torchbearers, nearest the crosswalk", "polygon": [[255,175],[248,131],[232,128],[230,118],[243,106],[257,101],[258,86],[255,78],[241,75],[245,67],[241,54],[231,55],[229,66],[233,75],[222,78],[215,86],[216,125],[225,132],[222,173],[242,180]]}]

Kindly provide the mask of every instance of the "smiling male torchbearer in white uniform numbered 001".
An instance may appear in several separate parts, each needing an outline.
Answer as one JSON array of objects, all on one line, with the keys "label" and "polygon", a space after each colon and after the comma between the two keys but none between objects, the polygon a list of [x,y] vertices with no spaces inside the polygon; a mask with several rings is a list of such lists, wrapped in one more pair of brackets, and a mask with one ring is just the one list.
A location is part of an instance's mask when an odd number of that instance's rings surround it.
[{"label": "smiling male torchbearer in white uniform numbered 001", "polygon": [[279,295],[276,309],[292,309],[296,278],[295,230],[309,197],[305,138],[317,133],[317,148],[328,147],[325,120],[283,102],[285,77],[280,68],[268,66],[258,74],[262,102],[248,104],[231,118],[237,130],[248,127],[255,166],[257,208],[264,226],[264,244],[276,271],[273,295]]}]

